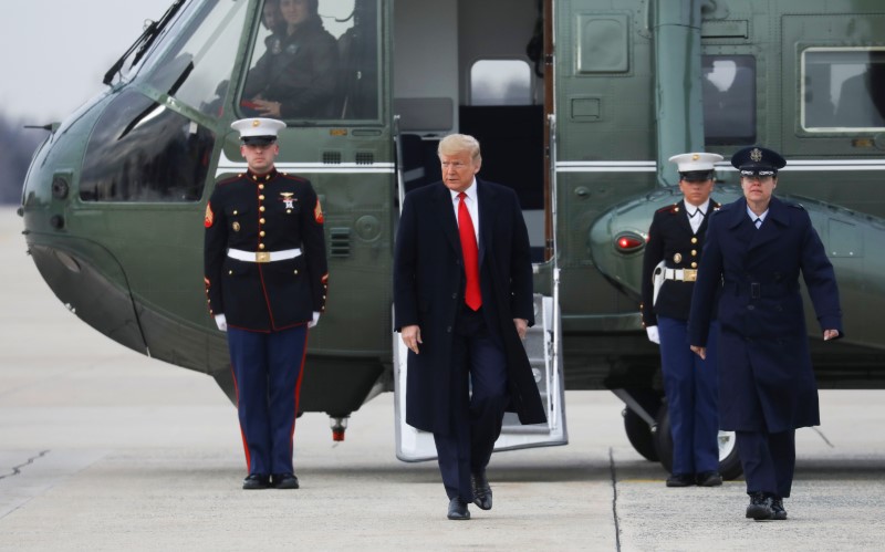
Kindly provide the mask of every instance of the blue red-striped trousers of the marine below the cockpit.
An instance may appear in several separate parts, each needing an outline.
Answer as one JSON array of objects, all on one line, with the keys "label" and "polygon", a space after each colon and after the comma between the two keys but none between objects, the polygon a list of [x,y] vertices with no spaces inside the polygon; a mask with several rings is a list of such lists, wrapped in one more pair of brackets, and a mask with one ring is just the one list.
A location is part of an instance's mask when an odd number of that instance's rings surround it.
[{"label": "blue red-striped trousers of the marine below the cockpit", "polygon": [[249,473],[292,473],[292,440],[308,325],[280,332],[228,327],[237,414]]}]

